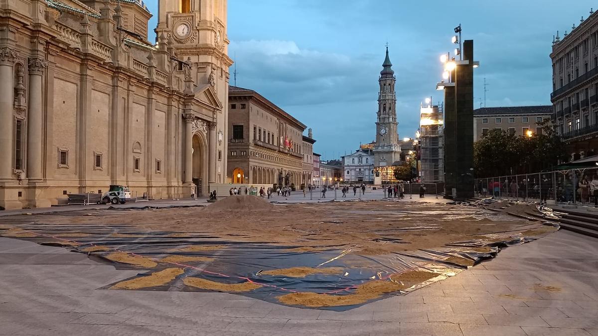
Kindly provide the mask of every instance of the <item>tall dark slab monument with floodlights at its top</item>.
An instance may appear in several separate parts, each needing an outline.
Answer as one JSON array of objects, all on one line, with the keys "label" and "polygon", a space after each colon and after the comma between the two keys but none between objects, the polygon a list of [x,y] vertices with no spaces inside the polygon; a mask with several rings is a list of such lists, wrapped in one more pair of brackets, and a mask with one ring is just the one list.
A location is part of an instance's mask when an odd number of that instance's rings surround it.
[{"label": "tall dark slab monument with floodlights at its top", "polygon": [[474,197],[474,41],[463,42],[463,60],[456,60],[444,87],[445,198]]}]

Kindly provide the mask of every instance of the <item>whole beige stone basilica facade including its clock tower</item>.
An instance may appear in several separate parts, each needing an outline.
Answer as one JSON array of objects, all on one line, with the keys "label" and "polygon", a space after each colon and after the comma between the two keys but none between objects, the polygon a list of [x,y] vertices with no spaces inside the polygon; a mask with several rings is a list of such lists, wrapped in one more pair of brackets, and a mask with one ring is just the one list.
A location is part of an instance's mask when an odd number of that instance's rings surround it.
[{"label": "whole beige stone basilica facade including its clock tower", "polygon": [[0,0],[0,209],[227,176],[227,1]]}]

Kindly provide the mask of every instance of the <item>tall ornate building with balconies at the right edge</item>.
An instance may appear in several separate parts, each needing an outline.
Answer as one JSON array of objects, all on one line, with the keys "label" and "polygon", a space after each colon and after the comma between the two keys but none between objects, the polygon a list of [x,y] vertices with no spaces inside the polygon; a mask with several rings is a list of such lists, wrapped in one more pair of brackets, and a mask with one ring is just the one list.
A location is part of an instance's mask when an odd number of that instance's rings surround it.
[{"label": "tall ornate building with balconies at the right edge", "polygon": [[598,154],[598,14],[591,11],[563,39],[557,32],[550,58],[553,120],[571,160]]}]

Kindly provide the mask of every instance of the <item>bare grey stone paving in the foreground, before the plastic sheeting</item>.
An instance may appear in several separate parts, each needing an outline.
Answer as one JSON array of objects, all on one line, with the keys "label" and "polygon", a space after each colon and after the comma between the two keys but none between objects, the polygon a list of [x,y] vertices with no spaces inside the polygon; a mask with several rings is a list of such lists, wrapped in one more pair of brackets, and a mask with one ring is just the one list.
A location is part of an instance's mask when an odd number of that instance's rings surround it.
[{"label": "bare grey stone paving in the foreground, before the plastic sheeting", "polygon": [[100,290],[139,271],[65,251],[0,238],[0,335],[598,335],[598,242],[567,231],[344,312]]}]

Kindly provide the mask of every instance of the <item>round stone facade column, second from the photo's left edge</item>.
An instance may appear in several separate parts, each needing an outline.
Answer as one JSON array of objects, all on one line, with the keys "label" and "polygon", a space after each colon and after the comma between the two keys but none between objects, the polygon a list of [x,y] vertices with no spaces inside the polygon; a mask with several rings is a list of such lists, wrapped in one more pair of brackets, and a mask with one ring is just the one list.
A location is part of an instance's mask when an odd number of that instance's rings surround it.
[{"label": "round stone facade column, second from the photo's left edge", "polygon": [[38,57],[29,59],[29,113],[27,132],[27,177],[42,181],[42,136],[44,114],[42,111],[42,77],[48,62]]}]

